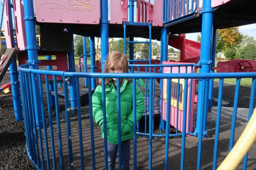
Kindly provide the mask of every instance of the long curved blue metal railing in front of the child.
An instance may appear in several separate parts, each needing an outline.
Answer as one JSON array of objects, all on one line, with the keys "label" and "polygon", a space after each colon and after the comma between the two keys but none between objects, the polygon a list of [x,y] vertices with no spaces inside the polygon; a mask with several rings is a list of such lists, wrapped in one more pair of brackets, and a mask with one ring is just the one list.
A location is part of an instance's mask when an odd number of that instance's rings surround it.
[{"label": "long curved blue metal railing in front of the child", "polygon": [[[91,88],[91,78],[101,78],[102,79],[102,105],[103,105],[103,113],[106,113],[106,100],[105,100],[105,78],[116,78],[117,77],[117,81],[119,82],[120,79],[122,78],[132,78],[132,85],[133,85],[133,94],[136,93],[136,79],[149,79],[149,132],[148,133],[140,133],[137,132],[137,127],[136,127],[136,121],[135,121],[135,114],[136,114],[136,103],[133,103],[133,109],[134,109],[134,122],[133,122],[133,139],[134,139],[134,147],[133,147],[133,151],[134,151],[134,161],[137,161],[137,135],[142,134],[143,136],[148,136],[149,138],[149,157],[148,157],[148,169],[151,169],[153,164],[152,164],[152,155],[153,155],[153,150],[152,150],[152,142],[153,142],[153,138],[154,137],[166,137],[166,143],[165,143],[165,169],[168,169],[168,161],[170,159],[169,157],[169,137],[175,137],[175,136],[181,136],[182,137],[182,144],[181,144],[181,157],[180,157],[180,169],[184,169],[184,163],[186,162],[185,159],[185,137],[186,135],[193,135],[192,133],[190,133],[190,130],[186,131],[183,130],[182,133],[179,134],[170,134],[170,112],[171,112],[171,91],[172,91],[172,79],[185,79],[185,83],[184,83],[184,102],[183,102],[183,108],[184,108],[184,113],[186,112],[186,106],[191,103],[193,101],[193,99],[189,100],[189,103],[187,103],[187,97],[190,96],[190,94],[187,93],[189,85],[188,85],[188,80],[189,79],[200,79],[200,81],[202,81],[203,85],[206,85],[206,80],[207,79],[215,79],[215,78],[220,78],[220,86],[219,86],[219,102],[218,102],[218,113],[217,113],[217,123],[216,123],[216,131],[215,131],[215,148],[214,148],[214,156],[213,156],[213,167],[216,167],[216,161],[217,161],[217,155],[218,155],[218,136],[219,136],[219,126],[220,126],[220,115],[221,115],[221,97],[222,97],[222,91],[223,91],[223,82],[225,78],[236,78],[238,79],[236,86],[239,87],[239,82],[240,79],[242,78],[253,78],[253,86],[251,88],[251,100],[250,100],[250,115],[252,113],[253,110],[253,102],[254,102],[254,94],[255,94],[255,85],[256,85],[256,73],[201,73],[201,74],[196,74],[196,73],[180,73],[180,74],[166,74],[166,73],[132,73],[132,74],[102,74],[102,73],[79,73],[79,72],[63,72],[63,71],[43,71],[43,70],[32,70],[32,69],[28,69],[29,64],[26,65],[21,65],[18,67],[19,70],[19,75],[20,75],[20,88],[21,88],[21,96],[22,96],[22,103],[23,103],[23,115],[24,115],[24,125],[25,125],[25,130],[26,130],[26,147],[27,147],[27,152],[28,152],[28,156],[29,159],[32,161],[32,163],[35,165],[35,167],[37,169],[40,168],[44,168],[45,165],[47,165],[47,168],[49,169],[49,167],[53,166],[53,169],[56,169],[58,165],[60,165],[61,169],[64,169],[67,165],[64,164],[64,153],[62,152],[62,145],[64,142],[63,137],[61,136],[61,127],[60,127],[60,117],[58,116],[58,91],[57,91],[57,79],[56,76],[62,76],[63,77],[63,81],[64,81],[64,91],[65,91],[65,112],[66,112],[66,119],[64,120],[64,125],[66,125],[67,127],[67,147],[68,147],[68,153],[66,152],[65,154],[68,154],[68,159],[69,159],[69,168],[70,169],[76,169],[74,166],[75,164],[73,163],[73,147],[72,147],[72,138],[71,138],[71,125],[70,125],[70,112],[74,109],[74,108],[70,108],[70,103],[68,100],[68,91],[67,91],[67,80],[68,77],[73,77],[76,81],[76,94],[79,94],[79,77],[82,78],[88,78],[88,90],[89,90],[89,115],[90,115],[90,134],[87,133],[87,136],[90,136],[91,139],[91,160],[92,160],[92,169],[96,169],[97,166],[97,160],[95,159],[96,155],[95,155],[95,142],[94,139],[96,138],[94,136],[93,130],[93,113],[92,113],[92,88]],[[164,67],[166,65],[157,65],[159,67]],[[175,65],[176,66],[176,65]],[[137,65],[137,67],[140,67],[139,65]],[[152,67],[151,65],[143,65],[143,67]],[[169,66],[170,67],[170,66]],[[174,66],[173,66],[174,67]],[[182,66],[180,66],[182,67]],[[184,65],[183,65],[184,67]],[[190,65],[190,67],[193,67],[193,65]],[[171,67],[172,68],[172,67]],[[155,72],[155,69],[154,69]],[[52,75],[53,76],[53,84],[54,84],[54,92],[55,92],[55,108],[56,108],[56,120],[57,120],[57,130],[53,128],[52,125],[52,110],[51,107],[49,105],[49,78],[48,76]],[[46,90],[44,91],[43,89],[43,84],[42,84],[42,76],[46,77]],[[35,77],[38,77],[38,82],[39,82],[39,89],[40,92],[38,93],[39,96],[36,96],[36,94],[33,94],[32,92],[35,91],[35,89],[37,89],[35,87],[35,81],[33,82],[33,80],[35,79]],[[166,115],[166,134],[165,135],[161,135],[161,134],[154,134],[153,130],[153,126],[154,124],[152,123],[154,121],[153,118],[153,112],[154,112],[154,108],[153,108],[153,98],[154,98],[154,87],[153,87],[153,82],[155,81],[155,79],[167,79],[167,107],[166,110],[168,113]],[[34,84],[34,85],[33,85]],[[45,114],[45,110],[44,110],[44,93],[47,94],[47,104],[48,104],[48,114],[49,114],[49,125],[47,125],[46,123],[46,114]],[[202,101],[204,101],[204,93],[205,91],[203,91],[203,93],[201,94],[201,96],[199,96],[201,98]],[[77,137],[76,140],[79,140],[79,153],[80,153],[80,163],[76,163],[76,166],[79,166],[79,168],[83,168],[85,166],[85,162],[84,162],[84,150],[83,150],[83,138],[84,138],[84,134],[82,134],[82,131],[84,130],[81,127],[81,103],[80,103],[80,99],[79,96],[77,97],[77,118],[78,118],[78,130],[79,130],[79,136]],[[190,99],[191,97],[189,97]],[[41,107],[39,108],[37,106],[37,102],[34,102],[35,99],[39,99],[40,100],[40,104]],[[120,89],[119,86],[117,88],[117,99],[118,99],[118,141],[120,144],[121,141],[121,120],[120,120]],[[238,99],[238,95],[235,95],[235,101]],[[133,95],[133,100],[136,101],[136,95]],[[192,102],[193,103],[193,102]],[[237,102],[234,102],[234,111],[235,109],[237,109]],[[189,104],[191,105],[191,104]],[[202,103],[201,105],[202,109],[204,110],[204,103]],[[41,130],[36,130],[37,128],[37,124],[36,124],[36,120],[35,120],[35,114],[38,113],[38,109],[41,109],[42,111],[42,115],[43,115],[43,131],[44,131],[44,144],[43,144],[43,134],[41,133]],[[200,117],[200,121],[203,121],[204,119],[204,114],[201,114]],[[183,114],[183,117],[180,118],[183,121],[183,129],[185,129],[186,127],[186,114]],[[236,121],[235,119],[232,120],[232,124],[234,123],[234,121]],[[63,120],[62,120],[63,122]],[[62,124],[63,125],[63,124]],[[49,126],[49,127],[48,127]],[[106,114],[103,114],[103,127],[104,127],[104,148],[105,150],[107,149],[107,117]],[[197,165],[198,165],[198,170],[200,169],[201,166],[201,150],[202,150],[202,138],[203,138],[203,134],[202,134],[202,128],[203,128],[203,124],[201,124],[200,127],[200,133],[198,136],[198,140],[199,140],[199,144],[198,144],[198,161],[197,161]],[[47,129],[49,129],[49,131],[47,131]],[[54,131],[55,130],[55,131]],[[58,150],[59,152],[57,153],[57,148],[55,148],[55,141],[54,140],[54,133],[58,133]],[[50,134],[47,134],[50,133]],[[231,129],[231,135],[234,135],[235,130],[232,128]],[[50,153],[49,153],[49,143],[48,143],[48,139],[51,140],[51,150],[52,150],[52,158],[50,158]],[[44,146],[45,145],[45,146]],[[233,143],[230,144],[230,147],[233,147]],[[45,151],[44,151],[45,150]],[[43,154],[44,153],[44,154]],[[105,166],[107,169],[107,152],[104,153],[105,156]],[[40,155],[40,156],[39,156]],[[119,155],[121,155],[121,150],[119,149]],[[60,161],[57,161],[56,158],[60,159]],[[66,155],[67,156],[67,155]],[[50,160],[52,159],[52,160]],[[247,161],[247,157],[244,158],[245,161]],[[53,164],[51,164],[51,162]],[[57,163],[59,162],[59,163]],[[66,163],[66,162],[65,162]],[[119,164],[120,161],[119,161]],[[136,169],[136,167],[134,167],[134,169]]]}]

